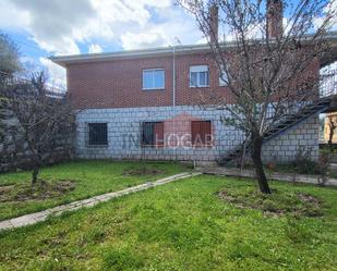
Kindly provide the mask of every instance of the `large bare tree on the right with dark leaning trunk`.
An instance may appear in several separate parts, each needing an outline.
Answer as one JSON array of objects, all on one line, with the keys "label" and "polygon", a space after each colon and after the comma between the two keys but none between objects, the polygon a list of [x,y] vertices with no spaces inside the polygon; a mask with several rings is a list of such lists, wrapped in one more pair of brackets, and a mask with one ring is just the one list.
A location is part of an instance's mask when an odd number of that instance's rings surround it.
[{"label": "large bare tree on the right with dark leaning trunk", "polygon": [[318,60],[328,49],[334,1],[179,0],[195,16],[229,90],[207,93],[203,102],[224,108],[224,121],[249,135],[262,193],[270,193],[262,163],[264,135],[318,97]]}]

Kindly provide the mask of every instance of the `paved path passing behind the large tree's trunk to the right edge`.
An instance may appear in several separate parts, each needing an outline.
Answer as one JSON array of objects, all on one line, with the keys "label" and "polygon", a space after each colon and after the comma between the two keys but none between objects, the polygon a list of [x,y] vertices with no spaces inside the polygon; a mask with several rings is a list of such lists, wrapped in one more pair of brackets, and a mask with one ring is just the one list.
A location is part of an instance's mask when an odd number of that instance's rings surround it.
[{"label": "paved path passing behind the large tree's trunk to the right edge", "polygon": [[[208,169],[198,169],[204,174],[214,174],[214,175],[225,175],[225,176],[241,176],[241,177],[255,177],[255,172],[253,170],[242,170],[236,168],[208,168]],[[317,184],[317,176],[313,175],[302,175],[302,174],[287,174],[287,173],[266,173],[267,178],[285,182],[296,182],[304,184]],[[336,178],[329,178],[326,185],[337,186]]]}]

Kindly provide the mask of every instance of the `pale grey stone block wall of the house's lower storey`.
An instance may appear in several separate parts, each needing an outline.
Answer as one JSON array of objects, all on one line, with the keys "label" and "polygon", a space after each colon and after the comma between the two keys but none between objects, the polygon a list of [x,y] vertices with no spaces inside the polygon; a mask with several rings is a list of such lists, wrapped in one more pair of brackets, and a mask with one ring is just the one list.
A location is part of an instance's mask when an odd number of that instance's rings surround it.
[{"label": "pale grey stone block wall of the house's lower storey", "polygon": [[[200,107],[179,106],[120,108],[120,109],[87,109],[77,115],[76,156],[87,159],[148,159],[180,161],[214,161],[236,148],[244,139],[243,134],[221,122],[226,114],[222,110],[204,110]],[[191,120],[212,122],[213,146],[193,148],[183,144],[177,147],[142,147],[142,122],[159,122],[165,124],[165,131],[171,131],[172,121],[177,130],[179,123],[184,128]],[[107,123],[108,146],[88,146],[88,123]],[[166,128],[167,127],[167,128]],[[179,134],[179,133],[177,133]],[[318,116],[302,122],[296,127],[277,136],[263,147],[264,161],[289,162],[296,157],[300,147],[311,149],[312,158],[318,156]]]}]

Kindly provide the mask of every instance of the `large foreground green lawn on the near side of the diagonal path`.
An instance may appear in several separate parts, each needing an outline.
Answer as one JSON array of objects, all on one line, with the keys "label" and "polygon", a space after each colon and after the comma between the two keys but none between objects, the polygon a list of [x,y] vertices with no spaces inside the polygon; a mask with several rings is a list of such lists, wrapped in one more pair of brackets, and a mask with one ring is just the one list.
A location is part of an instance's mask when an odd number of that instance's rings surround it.
[{"label": "large foreground green lawn on the near side of the diagonal path", "polygon": [[305,193],[323,217],[269,217],[218,196],[254,187],[201,175],[4,232],[0,270],[337,270],[337,189],[272,183],[268,201]]}]

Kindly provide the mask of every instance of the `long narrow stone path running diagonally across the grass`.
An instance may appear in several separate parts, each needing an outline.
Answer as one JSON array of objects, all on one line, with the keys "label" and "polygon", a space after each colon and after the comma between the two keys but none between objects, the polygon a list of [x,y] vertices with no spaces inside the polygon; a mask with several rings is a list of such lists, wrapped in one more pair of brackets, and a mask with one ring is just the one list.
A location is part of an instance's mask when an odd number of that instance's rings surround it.
[{"label": "long narrow stone path running diagonally across the grass", "polygon": [[0,231],[35,224],[37,222],[45,221],[49,215],[60,215],[61,213],[63,213],[65,211],[74,211],[74,210],[77,210],[77,209],[81,209],[81,208],[92,207],[92,206],[95,206],[99,202],[108,201],[112,198],[118,198],[118,197],[121,197],[121,196],[124,196],[124,195],[128,195],[128,194],[131,194],[131,193],[135,193],[135,192],[146,190],[151,187],[156,187],[158,185],[167,184],[167,183],[170,183],[170,182],[173,182],[173,181],[177,181],[177,180],[182,180],[182,178],[186,178],[186,177],[191,177],[191,176],[195,176],[195,175],[200,175],[200,174],[202,174],[202,173],[198,173],[198,172],[180,173],[180,174],[177,174],[177,175],[160,178],[160,180],[155,181],[155,182],[148,182],[148,183],[145,183],[145,184],[132,186],[132,187],[129,187],[129,188],[123,189],[123,190],[111,192],[111,193],[103,194],[103,195],[95,196],[95,197],[92,197],[92,198],[73,201],[73,202],[68,204],[68,205],[61,205],[61,206],[58,206],[58,207],[55,207],[55,208],[51,208],[51,209],[47,209],[45,211],[29,213],[29,214],[25,214],[25,215],[22,215],[22,217],[10,219],[10,220],[4,220],[4,221],[0,222]]}]

